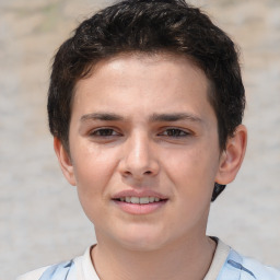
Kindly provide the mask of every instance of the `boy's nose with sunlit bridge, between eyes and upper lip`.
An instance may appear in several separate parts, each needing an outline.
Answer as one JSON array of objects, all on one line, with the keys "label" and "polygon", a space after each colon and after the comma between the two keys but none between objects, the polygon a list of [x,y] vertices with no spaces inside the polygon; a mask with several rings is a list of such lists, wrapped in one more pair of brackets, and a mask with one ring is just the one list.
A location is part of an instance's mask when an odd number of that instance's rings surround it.
[{"label": "boy's nose with sunlit bridge, between eyes and upper lip", "polygon": [[155,176],[160,166],[152,140],[144,133],[135,133],[126,140],[119,170],[122,176],[141,180]]}]

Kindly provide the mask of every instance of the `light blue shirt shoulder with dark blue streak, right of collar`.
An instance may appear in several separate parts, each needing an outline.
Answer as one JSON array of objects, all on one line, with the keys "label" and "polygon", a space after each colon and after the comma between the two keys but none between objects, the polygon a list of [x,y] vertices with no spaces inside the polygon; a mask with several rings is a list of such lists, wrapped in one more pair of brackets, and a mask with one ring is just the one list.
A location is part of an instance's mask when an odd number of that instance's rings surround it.
[{"label": "light blue shirt shoulder with dark blue streak, right of collar", "polygon": [[218,279],[280,280],[280,270],[265,266],[253,258],[244,257],[231,249]]}]

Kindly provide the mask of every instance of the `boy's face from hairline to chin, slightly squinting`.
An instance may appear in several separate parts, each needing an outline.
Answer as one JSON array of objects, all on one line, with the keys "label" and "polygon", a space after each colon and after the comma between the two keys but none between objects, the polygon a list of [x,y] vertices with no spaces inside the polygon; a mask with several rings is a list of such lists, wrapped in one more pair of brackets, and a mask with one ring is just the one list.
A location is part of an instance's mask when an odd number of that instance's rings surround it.
[{"label": "boy's face from hairline to chin, slightly squinting", "polygon": [[78,82],[62,170],[97,240],[154,249],[205,235],[221,165],[207,94],[205,73],[166,54],[117,56]]}]

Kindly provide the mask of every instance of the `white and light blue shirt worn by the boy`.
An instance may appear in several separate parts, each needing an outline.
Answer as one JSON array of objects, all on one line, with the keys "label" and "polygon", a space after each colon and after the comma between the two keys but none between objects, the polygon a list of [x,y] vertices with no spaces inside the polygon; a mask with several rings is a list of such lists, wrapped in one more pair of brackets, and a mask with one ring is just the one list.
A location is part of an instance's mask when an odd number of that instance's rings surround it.
[{"label": "white and light blue shirt worn by the boy", "polygon": [[[217,240],[218,246],[203,280],[280,280],[280,271],[237,254]],[[27,272],[16,280],[100,280],[91,260],[91,247],[70,261]]]}]

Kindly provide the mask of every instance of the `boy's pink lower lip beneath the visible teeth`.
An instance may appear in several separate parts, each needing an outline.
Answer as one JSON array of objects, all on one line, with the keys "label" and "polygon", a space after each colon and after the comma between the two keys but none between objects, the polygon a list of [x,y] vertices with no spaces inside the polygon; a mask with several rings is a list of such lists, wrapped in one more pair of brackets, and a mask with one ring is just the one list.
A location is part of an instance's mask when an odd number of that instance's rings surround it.
[{"label": "boy's pink lower lip beneath the visible teeth", "polygon": [[138,205],[138,203],[128,203],[119,200],[114,200],[114,202],[125,212],[130,214],[150,214],[162,208],[167,200],[162,200],[159,202]]}]

